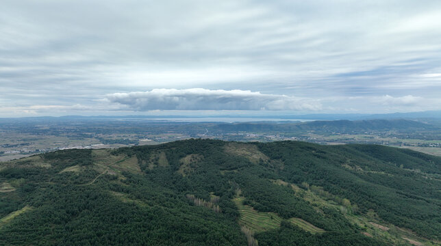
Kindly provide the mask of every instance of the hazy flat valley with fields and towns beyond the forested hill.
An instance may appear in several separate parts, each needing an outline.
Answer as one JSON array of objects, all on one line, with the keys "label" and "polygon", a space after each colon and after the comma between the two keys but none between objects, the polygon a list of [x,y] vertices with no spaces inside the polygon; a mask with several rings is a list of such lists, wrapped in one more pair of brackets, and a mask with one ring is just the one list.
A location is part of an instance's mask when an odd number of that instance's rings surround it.
[{"label": "hazy flat valley with fields and towns beyond the forested hill", "polygon": [[225,141],[373,143],[441,156],[436,120],[185,122],[145,118],[0,119],[0,161],[66,149],[155,145],[190,138]]}]

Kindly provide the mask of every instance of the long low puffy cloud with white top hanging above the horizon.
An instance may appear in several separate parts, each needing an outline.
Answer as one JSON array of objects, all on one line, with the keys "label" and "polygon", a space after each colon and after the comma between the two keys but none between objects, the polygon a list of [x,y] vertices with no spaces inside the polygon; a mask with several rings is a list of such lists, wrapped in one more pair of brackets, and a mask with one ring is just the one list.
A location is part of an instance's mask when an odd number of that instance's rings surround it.
[{"label": "long low puffy cloud with white top hanging above the horizon", "polygon": [[114,93],[109,102],[137,111],[148,110],[319,110],[320,102],[307,98],[262,94],[249,90],[154,89],[149,92]]}]

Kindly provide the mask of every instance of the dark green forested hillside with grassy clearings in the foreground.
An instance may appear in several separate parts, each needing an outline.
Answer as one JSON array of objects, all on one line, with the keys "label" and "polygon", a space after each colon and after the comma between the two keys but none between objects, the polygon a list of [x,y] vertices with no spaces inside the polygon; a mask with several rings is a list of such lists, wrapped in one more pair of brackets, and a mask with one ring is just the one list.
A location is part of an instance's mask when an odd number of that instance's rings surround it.
[{"label": "dark green forested hillside with grassy clearings in the foreground", "polygon": [[441,158],[207,139],[0,163],[0,245],[440,245]]}]

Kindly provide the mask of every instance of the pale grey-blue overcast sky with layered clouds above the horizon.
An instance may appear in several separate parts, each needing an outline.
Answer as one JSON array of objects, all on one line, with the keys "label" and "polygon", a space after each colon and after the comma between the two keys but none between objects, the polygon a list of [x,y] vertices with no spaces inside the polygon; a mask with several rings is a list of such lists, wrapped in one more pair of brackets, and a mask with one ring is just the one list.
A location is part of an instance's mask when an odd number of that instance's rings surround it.
[{"label": "pale grey-blue overcast sky with layered clouds above the horizon", "polygon": [[441,110],[441,1],[2,0],[0,117]]}]

